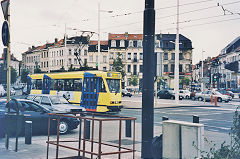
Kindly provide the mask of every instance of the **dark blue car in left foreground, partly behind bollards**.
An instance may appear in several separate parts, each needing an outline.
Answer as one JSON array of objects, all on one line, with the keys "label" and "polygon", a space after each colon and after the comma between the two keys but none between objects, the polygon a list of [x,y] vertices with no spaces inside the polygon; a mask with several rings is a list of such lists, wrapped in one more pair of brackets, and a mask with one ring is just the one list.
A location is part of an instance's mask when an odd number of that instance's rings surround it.
[{"label": "dark blue car in left foreground, partly behind bollards", "polygon": [[[32,121],[32,132],[33,134],[47,134],[48,132],[48,113],[57,113],[56,109],[49,109],[36,102],[27,99],[16,99],[19,107],[22,110],[23,115],[21,134],[24,133],[25,121]],[[5,121],[5,109],[6,109],[6,99],[0,99],[0,123],[3,127],[6,127]],[[10,109],[10,112],[16,112],[14,109]],[[70,114],[71,116],[71,114]],[[72,115],[73,116],[73,115]],[[57,117],[51,116],[51,127],[50,131],[56,133],[57,130]],[[13,123],[14,124],[14,123]],[[70,130],[74,130],[78,127],[79,120],[70,117],[60,117],[59,133],[65,134]],[[4,128],[1,125],[0,134],[4,133]],[[14,133],[14,132],[12,132]]]}]

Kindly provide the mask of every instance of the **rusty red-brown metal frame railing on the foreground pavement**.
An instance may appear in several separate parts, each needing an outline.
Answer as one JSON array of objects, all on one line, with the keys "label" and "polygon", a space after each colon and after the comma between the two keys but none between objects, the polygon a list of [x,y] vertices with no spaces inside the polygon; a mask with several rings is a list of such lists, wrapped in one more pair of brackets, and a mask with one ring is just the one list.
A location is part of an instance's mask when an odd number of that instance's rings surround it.
[{"label": "rusty red-brown metal frame railing on the foreground pavement", "polygon": [[[79,114],[79,113],[78,113]],[[50,128],[51,128],[51,116],[57,117],[57,138],[54,141],[50,141]],[[60,124],[60,118],[61,117],[68,117],[68,118],[78,118],[79,119],[79,139],[78,140],[61,140],[60,141],[60,134],[59,134],[59,124]],[[91,121],[91,137],[90,139],[87,139],[87,120]],[[133,121],[133,137],[132,137],[132,148],[124,147],[122,146],[122,121]],[[102,140],[102,137],[104,135],[103,133],[103,122],[107,121],[116,121],[119,123],[119,133],[118,133],[118,144],[111,144],[111,143],[105,143]],[[83,125],[83,134],[82,134],[82,122]],[[95,133],[95,126],[96,122],[98,122],[98,139],[94,139],[94,133]],[[132,158],[135,158],[135,122],[136,118],[133,117],[122,117],[117,115],[108,115],[108,114],[99,114],[99,113],[89,113],[89,112],[82,112],[79,116],[73,116],[70,113],[49,113],[49,121],[48,121],[48,139],[46,141],[47,143],[47,159],[49,157],[49,145],[55,145],[56,146],[56,157],[59,157],[59,147],[63,147],[70,150],[75,150],[78,152],[78,156],[74,157],[83,157],[87,158],[86,154],[90,156],[90,158],[93,158],[93,156],[97,156],[99,159],[101,159],[104,155],[118,155],[118,158],[121,158],[121,154],[123,153],[132,153]],[[67,145],[66,143],[78,143],[77,147],[72,147]],[[88,143],[88,145],[87,145]],[[90,144],[90,146],[89,146]],[[97,144],[97,146],[96,146]],[[74,144],[72,144],[74,145]],[[94,149],[95,146],[95,149]],[[102,147],[105,146],[105,149]],[[97,147],[97,149],[96,149]],[[108,152],[104,152],[106,150],[106,147],[108,147]],[[90,148],[90,150],[89,150]],[[112,151],[109,152],[109,150]],[[87,150],[88,149],[88,150]],[[117,149],[117,151],[116,151]],[[114,151],[113,151],[114,150]],[[94,152],[97,151],[97,152]]]}]

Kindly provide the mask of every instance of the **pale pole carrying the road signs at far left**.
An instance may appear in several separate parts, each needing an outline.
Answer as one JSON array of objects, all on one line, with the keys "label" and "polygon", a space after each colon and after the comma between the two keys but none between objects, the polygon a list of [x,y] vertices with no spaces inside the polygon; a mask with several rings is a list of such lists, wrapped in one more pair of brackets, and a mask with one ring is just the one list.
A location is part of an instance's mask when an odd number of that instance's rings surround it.
[{"label": "pale pole carrying the road signs at far left", "polygon": [[[10,34],[10,2],[8,6],[8,28],[9,28],[9,42],[7,46],[7,102],[10,101],[10,86],[11,86],[11,34]],[[6,113],[9,112],[9,108],[6,109]],[[5,148],[8,149],[9,136],[5,135]]]}]

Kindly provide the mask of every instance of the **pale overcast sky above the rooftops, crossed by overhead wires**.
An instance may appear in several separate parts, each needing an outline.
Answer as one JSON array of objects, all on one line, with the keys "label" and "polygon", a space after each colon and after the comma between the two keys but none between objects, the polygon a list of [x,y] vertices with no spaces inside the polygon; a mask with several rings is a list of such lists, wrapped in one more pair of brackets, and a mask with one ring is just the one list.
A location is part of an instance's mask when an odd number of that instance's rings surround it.
[{"label": "pale overcast sky above the rooftops, crossed by overhead wires", "polygon": [[[39,46],[79,31],[98,29],[98,0],[10,0],[11,50],[21,59],[29,46]],[[107,33],[142,34],[145,0],[101,0],[101,40]],[[176,33],[177,0],[155,0],[156,34]],[[217,4],[219,3],[220,6]],[[240,36],[240,0],[180,0],[180,33],[193,44],[193,63],[216,56]],[[223,9],[221,7],[223,6]],[[3,15],[0,16],[3,23]],[[72,29],[70,29],[72,28]],[[96,40],[94,35],[91,40]],[[0,49],[3,49],[1,42]]]}]

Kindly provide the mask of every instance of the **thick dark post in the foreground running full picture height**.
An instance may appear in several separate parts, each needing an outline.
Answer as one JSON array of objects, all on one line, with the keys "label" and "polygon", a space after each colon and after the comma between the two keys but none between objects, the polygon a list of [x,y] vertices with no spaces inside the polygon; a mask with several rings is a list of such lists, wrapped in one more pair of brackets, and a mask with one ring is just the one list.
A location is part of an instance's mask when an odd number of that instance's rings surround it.
[{"label": "thick dark post in the foreground running full picture height", "polygon": [[152,158],[154,86],[154,0],[145,0],[143,35],[142,158]]}]

